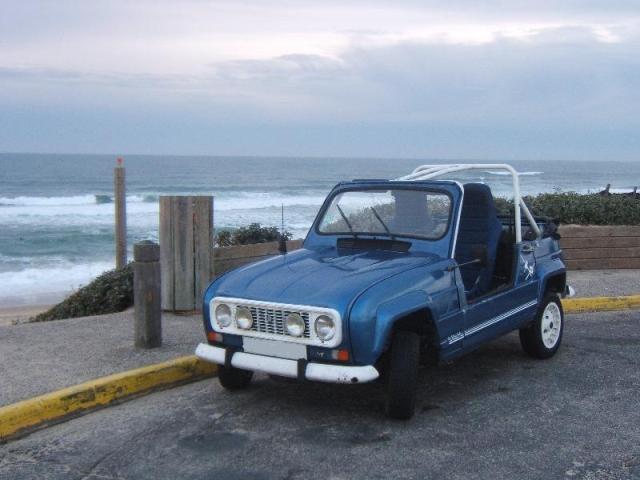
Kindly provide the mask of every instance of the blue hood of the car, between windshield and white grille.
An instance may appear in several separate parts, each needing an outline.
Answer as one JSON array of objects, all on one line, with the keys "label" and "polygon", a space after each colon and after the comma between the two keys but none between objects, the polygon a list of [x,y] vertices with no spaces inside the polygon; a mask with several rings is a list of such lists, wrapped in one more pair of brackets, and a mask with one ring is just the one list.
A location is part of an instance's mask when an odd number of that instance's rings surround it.
[{"label": "blue hood of the car, between windshield and white grille", "polygon": [[335,308],[345,315],[371,285],[439,259],[424,252],[301,249],[228,273],[216,296]]}]

